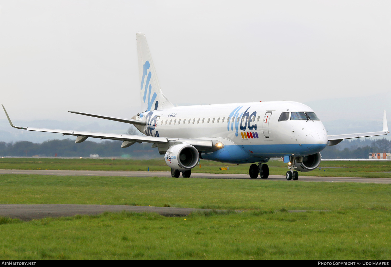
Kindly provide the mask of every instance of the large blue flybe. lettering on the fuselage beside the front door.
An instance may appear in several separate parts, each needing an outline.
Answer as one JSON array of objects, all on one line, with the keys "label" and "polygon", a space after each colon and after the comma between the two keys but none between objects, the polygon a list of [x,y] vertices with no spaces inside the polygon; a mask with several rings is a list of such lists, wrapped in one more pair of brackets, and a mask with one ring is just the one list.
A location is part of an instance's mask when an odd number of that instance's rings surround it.
[{"label": "large blue flybe. lettering on the fuselage beside the front door", "polygon": [[233,131],[233,127],[235,126],[235,136],[238,136],[239,125],[240,125],[241,131],[246,131],[247,128],[250,131],[256,130],[256,123],[254,123],[255,118],[256,118],[256,111],[254,111],[250,115],[248,110],[251,107],[248,107],[245,112],[240,113],[240,110],[242,109],[242,107],[239,106],[239,107],[235,108],[230,113],[230,119],[227,121],[227,130],[228,131],[229,130]]}]

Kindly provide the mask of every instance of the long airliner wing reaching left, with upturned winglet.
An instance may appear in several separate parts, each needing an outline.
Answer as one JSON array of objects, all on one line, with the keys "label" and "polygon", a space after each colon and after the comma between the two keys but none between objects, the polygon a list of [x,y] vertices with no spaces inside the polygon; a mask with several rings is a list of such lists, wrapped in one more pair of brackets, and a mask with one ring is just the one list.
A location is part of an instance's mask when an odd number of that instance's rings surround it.
[{"label": "long airliner wing reaching left, with upturned winglet", "polygon": [[[204,139],[181,139],[181,138],[167,138],[167,137],[154,137],[154,136],[145,136],[145,135],[129,135],[129,134],[120,134],[120,133],[97,133],[97,132],[84,132],[84,131],[72,131],[72,130],[59,130],[59,129],[46,129],[46,128],[34,128],[34,127],[20,127],[14,126],[11,119],[9,118],[7,111],[4,108],[5,115],[9,121],[9,124],[17,129],[27,130],[27,131],[36,131],[36,132],[48,132],[48,133],[61,133],[62,135],[74,135],[76,137],[75,143],[81,143],[86,140],[88,137],[100,138],[100,139],[110,139],[110,140],[119,140],[123,141],[121,148],[126,148],[135,142],[148,142],[152,144],[167,144],[170,145],[174,142],[186,142],[199,150],[214,150],[221,149],[224,147],[223,144],[219,141],[214,140],[204,140]],[[217,146],[217,144],[219,144]]]}]

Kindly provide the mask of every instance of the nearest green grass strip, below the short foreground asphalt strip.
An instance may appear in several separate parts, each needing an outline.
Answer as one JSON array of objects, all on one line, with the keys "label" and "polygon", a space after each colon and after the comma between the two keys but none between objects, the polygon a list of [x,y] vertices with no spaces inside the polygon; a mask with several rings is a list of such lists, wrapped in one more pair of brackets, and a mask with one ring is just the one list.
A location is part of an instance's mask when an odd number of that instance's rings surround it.
[{"label": "nearest green grass strip, below the short foreground asphalt strip", "polygon": [[106,213],[2,224],[3,260],[389,260],[384,210],[163,217]]}]

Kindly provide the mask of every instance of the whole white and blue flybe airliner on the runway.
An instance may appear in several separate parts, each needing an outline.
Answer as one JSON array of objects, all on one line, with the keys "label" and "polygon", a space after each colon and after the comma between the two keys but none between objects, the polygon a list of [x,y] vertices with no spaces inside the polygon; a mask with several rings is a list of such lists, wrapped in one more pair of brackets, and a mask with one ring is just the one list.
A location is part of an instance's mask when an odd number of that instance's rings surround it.
[{"label": "whole white and blue flybe airliner on the runway", "polygon": [[172,177],[190,177],[199,159],[224,163],[255,163],[249,168],[251,178],[269,176],[267,162],[283,157],[288,163],[287,180],[298,180],[298,171],[312,171],[319,166],[322,151],[343,139],[386,135],[386,111],[382,132],[327,135],[325,126],[314,111],[292,101],[250,102],[220,105],[174,107],[160,89],[147,40],[136,34],[142,110],[131,119],[69,111],[91,117],[130,123],[144,135],[95,133],[72,130],[14,126],[38,132],[75,135],[76,143],[88,137],[121,140],[121,148],[136,142],[149,142],[164,154]]}]

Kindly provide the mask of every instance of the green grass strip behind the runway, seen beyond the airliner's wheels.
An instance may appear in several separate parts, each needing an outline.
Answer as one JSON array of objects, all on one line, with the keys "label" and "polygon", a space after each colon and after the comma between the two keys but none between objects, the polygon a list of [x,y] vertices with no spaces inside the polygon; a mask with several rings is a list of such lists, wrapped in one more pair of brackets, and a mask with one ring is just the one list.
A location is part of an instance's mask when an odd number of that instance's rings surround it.
[{"label": "green grass strip behind the runway, seen beyond the airliner's wheels", "polygon": [[[193,173],[248,174],[250,164],[222,164],[201,160]],[[280,160],[267,163],[270,174],[285,175],[287,164]],[[228,171],[219,167],[229,166]],[[152,160],[63,159],[63,158],[0,158],[0,169],[102,170],[102,171],[170,171],[163,158]],[[391,178],[391,162],[322,161],[321,171],[299,173],[300,176]],[[389,173],[386,173],[389,172]]]}]

